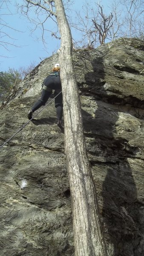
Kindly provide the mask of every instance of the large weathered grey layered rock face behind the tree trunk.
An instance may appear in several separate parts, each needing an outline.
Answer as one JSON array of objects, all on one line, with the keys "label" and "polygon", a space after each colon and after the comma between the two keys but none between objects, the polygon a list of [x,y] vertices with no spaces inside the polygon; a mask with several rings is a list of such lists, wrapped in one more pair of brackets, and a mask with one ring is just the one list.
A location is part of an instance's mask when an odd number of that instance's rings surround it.
[{"label": "large weathered grey layered rock face behind the tree trunk", "polygon": [[[108,255],[142,256],[144,41],[121,38],[78,50],[73,61]],[[42,61],[14,88],[1,110],[1,144],[28,121],[57,62],[58,54]],[[75,254],[64,134],[56,120],[52,102],[0,150],[0,256]]]}]

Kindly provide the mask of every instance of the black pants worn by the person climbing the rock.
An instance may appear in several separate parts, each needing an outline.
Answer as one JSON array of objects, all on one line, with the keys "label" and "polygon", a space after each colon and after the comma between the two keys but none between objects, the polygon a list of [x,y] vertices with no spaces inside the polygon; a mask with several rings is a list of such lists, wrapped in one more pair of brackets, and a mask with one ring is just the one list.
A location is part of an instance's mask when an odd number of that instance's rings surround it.
[{"label": "black pants worn by the person climbing the rock", "polygon": [[[54,96],[57,96],[61,92],[61,89],[56,89]],[[47,90],[42,90],[41,98],[35,103],[35,105],[32,107],[32,112],[35,112],[38,108],[41,106],[45,105],[47,100],[52,94],[52,90],[47,91]],[[56,98],[55,98],[55,108],[57,112],[57,117],[58,120],[62,119],[63,115],[63,95],[60,93]]]}]

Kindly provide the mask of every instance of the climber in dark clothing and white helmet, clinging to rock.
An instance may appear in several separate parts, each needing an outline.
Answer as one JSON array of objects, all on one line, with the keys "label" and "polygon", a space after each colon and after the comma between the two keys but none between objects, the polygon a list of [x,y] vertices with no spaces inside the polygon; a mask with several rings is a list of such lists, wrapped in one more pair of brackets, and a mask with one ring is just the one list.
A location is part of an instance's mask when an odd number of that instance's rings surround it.
[{"label": "climber in dark clothing and white helmet, clinging to rock", "polygon": [[60,65],[58,63],[55,64],[55,67],[52,69],[53,72],[49,76],[47,76],[46,79],[43,81],[44,85],[43,85],[41,98],[34,104],[31,111],[29,111],[28,118],[32,119],[32,113],[34,113],[42,105],[45,105],[50,95],[52,94],[52,90],[55,90],[55,93],[54,93],[54,96],[56,97],[55,108],[56,108],[56,113],[58,117],[57,125],[61,127],[61,119],[63,115],[63,95],[62,93],[60,93],[62,89],[61,89],[59,66]]}]

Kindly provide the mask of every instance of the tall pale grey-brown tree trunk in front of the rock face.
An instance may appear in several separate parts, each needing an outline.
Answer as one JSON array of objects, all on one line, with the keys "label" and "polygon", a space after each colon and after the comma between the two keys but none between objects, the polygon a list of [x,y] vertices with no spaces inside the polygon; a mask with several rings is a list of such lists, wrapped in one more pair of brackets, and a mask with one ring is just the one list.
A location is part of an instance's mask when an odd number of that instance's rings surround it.
[{"label": "tall pale grey-brown tree trunk in front of the rock face", "polygon": [[81,104],[72,64],[72,36],[62,0],[55,0],[61,35],[60,78],[63,91],[66,161],[72,198],[76,256],[106,256],[91,167],[86,154]]}]

